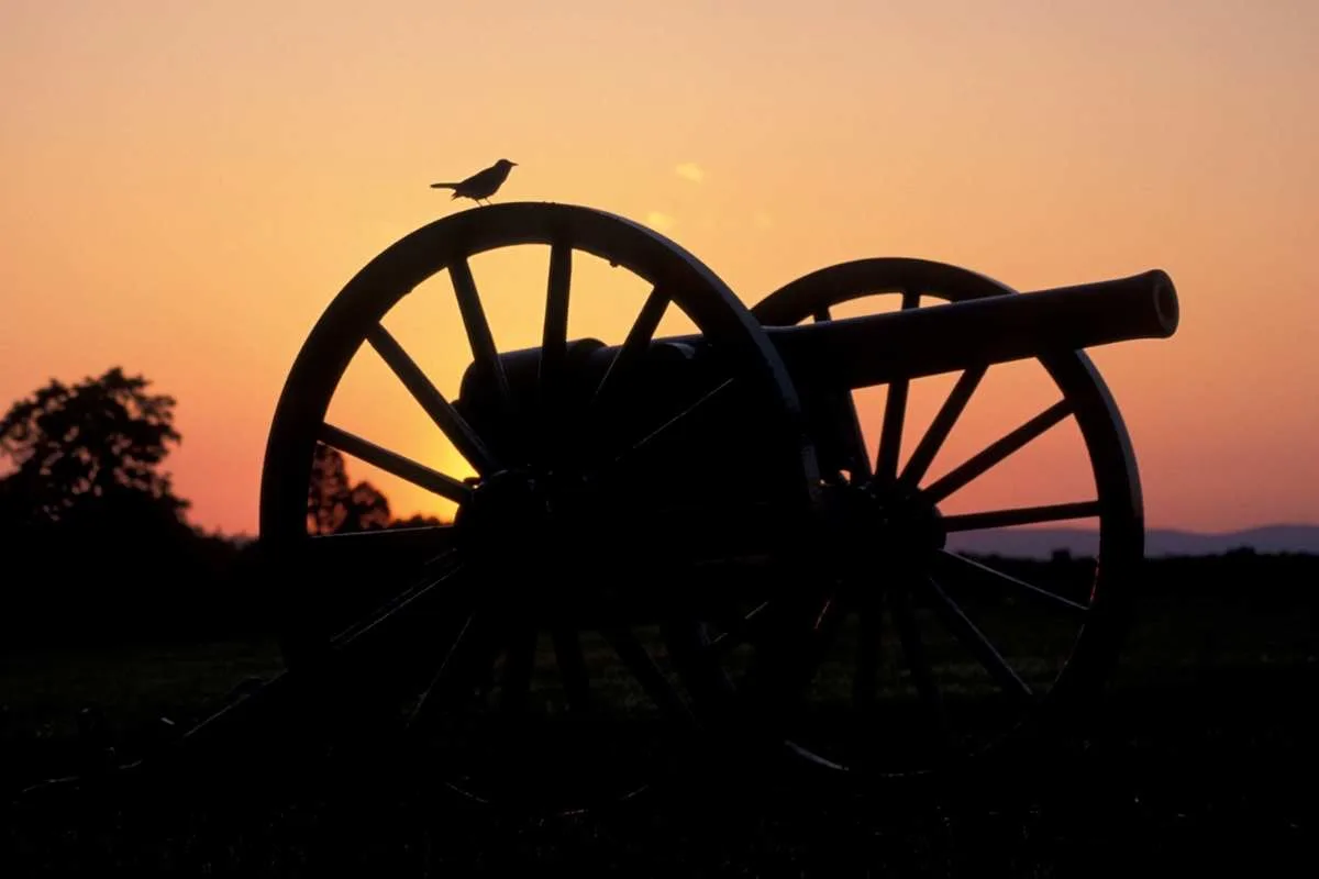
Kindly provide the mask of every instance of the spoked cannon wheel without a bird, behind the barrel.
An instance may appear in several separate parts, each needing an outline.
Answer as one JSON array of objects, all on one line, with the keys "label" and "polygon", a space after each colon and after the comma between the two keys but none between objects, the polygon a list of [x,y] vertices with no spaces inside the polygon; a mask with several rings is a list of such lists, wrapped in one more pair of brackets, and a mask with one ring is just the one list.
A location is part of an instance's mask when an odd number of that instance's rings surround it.
[{"label": "spoked cannon wheel without a bird, behind the barrel", "polygon": [[[836,318],[844,303],[852,303],[844,316],[868,311],[853,300],[872,297],[868,302],[888,297],[890,307],[915,308],[1012,293],[955,266],[874,258],[805,275],[752,312],[766,326],[791,326]],[[816,576],[802,584],[795,604],[725,609],[736,622],[714,637],[712,650],[727,658],[725,687],[737,681],[744,693],[770,695],[757,704],[774,712],[765,729],[782,733],[810,764],[853,778],[948,768],[1025,741],[1013,734],[1075,718],[1063,709],[1087,706],[1111,671],[1144,556],[1136,461],[1121,415],[1084,352],[1026,362],[1046,370],[1053,399],[1022,423],[992,428],[995,435],[972,445],[979,451],[938,478],[931,464],[940,447],[987,373],[992,378],[1005,366],[962,372],[910,452],[902,434],[913,382],[888,385],[872,448],[856,393],[810,387],[797,377],[813,423],[824,418],[831,426],[816,436],[816,448],[822,473],[832,478],[838,527],[816,547]],[[940,511],[1067,420],[1079,428],[1091,492],[1062,503],[1018,506],[1014,498],[1013,509]],[[955,548],[959,538],[987,528],[1086,519],[1097,521],[1097,565],[1014,567]],[[980,680],[968,680],[968,667]]]}]

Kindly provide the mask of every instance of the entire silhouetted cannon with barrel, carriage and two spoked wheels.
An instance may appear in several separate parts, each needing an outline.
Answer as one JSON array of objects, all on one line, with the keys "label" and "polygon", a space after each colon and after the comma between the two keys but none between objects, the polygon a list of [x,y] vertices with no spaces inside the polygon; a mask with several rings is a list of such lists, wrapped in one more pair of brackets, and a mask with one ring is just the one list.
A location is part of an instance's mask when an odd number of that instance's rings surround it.
[{"label": "entire silhouetted cannon with barrel, carriage and two spoked wheels", "polygon": [[[528,294],[542,337],[501,353],[471,260],[522,245],[549,248],[546,285]],[[644,282],[615,343],[568,332],[578,254]],[[454,399],[384,326],[441,274],[471,348]],[[896,307],[835,318],[873,299]],[[674,310],[695,331],[657,335]],[[1158,270],[1021,294],[951,265],[867,258],[747,307],[671,240],[611,213],[514,203],[439,219],[363,268],[297,354],[260,509],[288,668],[186,739],[226,741],[243,726],[227,721],[256,709],[324,726],[309,706],[332,704],[335,723],[396,737],[369,741],[393,742],[417,778],[553,809],[678,778],[674,764],[708,768],[702,755],[874,779],[1030,741],[1105,681],[1144,559],[1130,441],[1083,349],[1177,324]],[[328,419],[365,347],[474,476]],[[1017,361],[1042,366],[1057,401],[931,478],[989,369]],[[954,374],[904,461],[913,382]],[[853,391],[878,386],[872,451]],[[1064,422],[1084,494],[944,509]],[[446,498],[452,522],[313,534],[323,447]],[[1031,573],[950,544],[1072,519],[1097,521],[1091,564]]]}]

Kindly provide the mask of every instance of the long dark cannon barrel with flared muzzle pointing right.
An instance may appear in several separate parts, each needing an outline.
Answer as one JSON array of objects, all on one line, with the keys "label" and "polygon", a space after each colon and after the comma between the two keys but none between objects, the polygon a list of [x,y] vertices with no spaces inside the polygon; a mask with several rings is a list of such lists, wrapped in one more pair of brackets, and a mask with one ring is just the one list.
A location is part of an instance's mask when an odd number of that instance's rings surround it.
[{"label": "long dark cannon barrel with flared muzzle pointing right", "polygon": [[793,380],[867,387],[1177,331],[1173,279],[1158,269],[1096,283],[911,311],[766,327]]}]

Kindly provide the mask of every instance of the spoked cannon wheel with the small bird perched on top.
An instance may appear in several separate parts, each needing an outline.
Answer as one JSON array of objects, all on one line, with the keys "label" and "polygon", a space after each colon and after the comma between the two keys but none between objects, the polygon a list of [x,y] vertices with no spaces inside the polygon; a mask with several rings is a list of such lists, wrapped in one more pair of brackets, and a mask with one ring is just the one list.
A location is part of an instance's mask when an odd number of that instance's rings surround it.
[{"label": "spoked cannon wheel with the small bird perched on top", "polygon": [[[526,293],[545,303],[530,380],[497,358],[470,265],[518,245],[550,249],[546,286]],[[650,289],[603,378],[588,369],[599,343],[568,340],[578,254],[608,260]],[[383,324],[442,271],[474,357],[455,401]],[[718,385],[644,382],[638,365],[670,306],[696,326],[714,364],[704,374]],[[475,477],[437,472],[327,423],[363,343]],[[638,473],[670,438],[699,434],[710,409],[702,402],[712,398],[754,412],[747,431],[778,457],[766,498],[789,521],[794,510],[809,515],[819,480],[785,368],[747,308],[678,245],[609,213],[533,203],[474,208],[401,239],[326,308],[274,414],[261,542],[280,572],[289,668],[339,669],[330,692],[356,695],[340,716],[385,717],[385,730],[405,733],[413,749],[402,751],[415,760],[409,776],[475,800],[563,812],[645,788],[699,726],[699,706],[671,666],[681,660],[674,644],[699,643],[702,629],[671,588],[683,559],[667,550],[682,510],[703,498],[699,485]],[[327,447],[456,503],[452,523],[309,534],[309,480]],[[609,713],[617,702],[628,717]],[[645,758],[657,747],[653,727],[677,743],[657,751],[658,763]],[[605,759],[628,743],[636,747],[617,764]]]}]

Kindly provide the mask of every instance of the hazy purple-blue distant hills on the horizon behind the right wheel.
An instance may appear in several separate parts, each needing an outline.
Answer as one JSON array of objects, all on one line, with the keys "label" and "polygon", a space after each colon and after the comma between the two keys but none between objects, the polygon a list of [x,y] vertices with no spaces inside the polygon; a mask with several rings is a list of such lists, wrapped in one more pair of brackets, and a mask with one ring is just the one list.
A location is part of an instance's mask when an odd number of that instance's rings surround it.
[{"label": "hazy purple-blue distant hills on the horizon behind the right wheel", "polygon": [[[983,555],[998,553],[1028,559],[1047,559],[1054,550],[1072,555],[1093,555],[1099,547],[1095,531],[1079,528],[1016,528],[948,535],[948,547]],[[1256,552],[1308,552],[1319,555],[1319,525],[1272,525],[1225,534],[1202,534],[1171,528],[1150,528],[1145,534],[1148,556],[1219,555],[1231,550]]]}]

